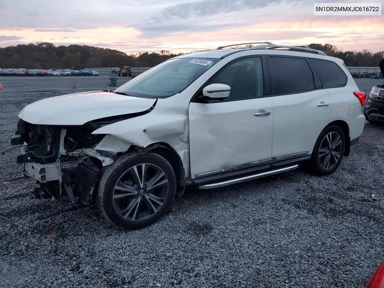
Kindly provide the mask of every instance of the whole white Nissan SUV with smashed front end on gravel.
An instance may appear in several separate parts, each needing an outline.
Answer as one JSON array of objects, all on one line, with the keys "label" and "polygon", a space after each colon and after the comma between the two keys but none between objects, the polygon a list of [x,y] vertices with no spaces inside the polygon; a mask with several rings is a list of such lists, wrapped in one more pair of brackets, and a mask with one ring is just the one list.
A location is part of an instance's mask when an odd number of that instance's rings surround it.
[{"label": "whole white Nissan SUV with smashed front end on gravel", "polygon": [[40,182],[36,195],[96,198],[110,222],[137,229],[187,185],[210,189],[305,162],[332,173],[362,133],[365,93],[338,58],[258,44],[177,56],[116,89],[26,106],[12,144],[23,145],[17,161]]}]

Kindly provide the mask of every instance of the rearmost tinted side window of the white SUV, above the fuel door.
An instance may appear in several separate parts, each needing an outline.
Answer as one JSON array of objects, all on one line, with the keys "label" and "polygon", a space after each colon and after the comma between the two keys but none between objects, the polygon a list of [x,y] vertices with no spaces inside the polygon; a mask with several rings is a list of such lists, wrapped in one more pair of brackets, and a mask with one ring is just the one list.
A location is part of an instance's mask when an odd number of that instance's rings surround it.
[{"label": "rearmost tinted side window of the white SUV, above the fuel door", "polygon": [[321,84],[323,84],[323,88],[338,88],[347,84],[347,75],[333,61],[321,59],[310,59],[310,61],[320,78]]}]

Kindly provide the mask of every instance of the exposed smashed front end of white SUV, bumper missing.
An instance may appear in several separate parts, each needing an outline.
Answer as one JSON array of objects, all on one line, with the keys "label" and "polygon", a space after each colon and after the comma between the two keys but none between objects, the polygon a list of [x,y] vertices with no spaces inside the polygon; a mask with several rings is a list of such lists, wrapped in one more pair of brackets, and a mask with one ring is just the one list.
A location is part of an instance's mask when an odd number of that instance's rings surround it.
[{"label": "exposed smashed front end of white SUV, bumper missing", "polygon": [[[31,135],[33,129],[28,131],[23,127],[23,122],[20,123],[15,134],[21,136],[13,138],[11,143],[24,144],[17,162],[24,165],[25,175],[35,179],[39,184],[39,187],[34,189],[36,197],[53,197],[73,204],[78,202],[89,204],[98,186],[101,169],[114,162],[116,153],[93,149],[102,137],[89,148],[73,148],[71,151],[65,143],[68,141],[65,128],[58,128],[55,133],[50,134],[57,135],[56,139],[44,142],[49,137],[43,135],[45,140],[33,150],[31,147],[38,145],[28,146],[26,141],[26,135]],[[68,137],[73,136],[70,134]]]}]

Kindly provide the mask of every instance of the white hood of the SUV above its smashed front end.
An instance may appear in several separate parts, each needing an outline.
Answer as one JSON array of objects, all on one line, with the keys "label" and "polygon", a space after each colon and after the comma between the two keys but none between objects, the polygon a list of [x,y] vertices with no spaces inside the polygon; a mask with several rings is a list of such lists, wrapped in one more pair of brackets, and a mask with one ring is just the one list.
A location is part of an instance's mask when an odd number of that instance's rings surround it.
[{"label": "white hood of the SUV above its smashed front end", "polygon": [[74,93],[46,98],[25,106],[18,116],[42,125],[82,125],[99,118],[148,110],[156,99],[104,91]]}]

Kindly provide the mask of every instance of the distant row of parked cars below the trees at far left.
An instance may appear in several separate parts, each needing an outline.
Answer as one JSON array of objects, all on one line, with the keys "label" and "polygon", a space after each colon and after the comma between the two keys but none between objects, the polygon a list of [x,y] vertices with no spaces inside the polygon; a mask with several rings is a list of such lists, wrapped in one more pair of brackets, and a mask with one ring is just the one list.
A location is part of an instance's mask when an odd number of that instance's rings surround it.
[{"label": "distant row of parked cars below the trees at far left", "polygon": [[94,70],[0,68],[0,76],[99,76],[99,73]]}]

